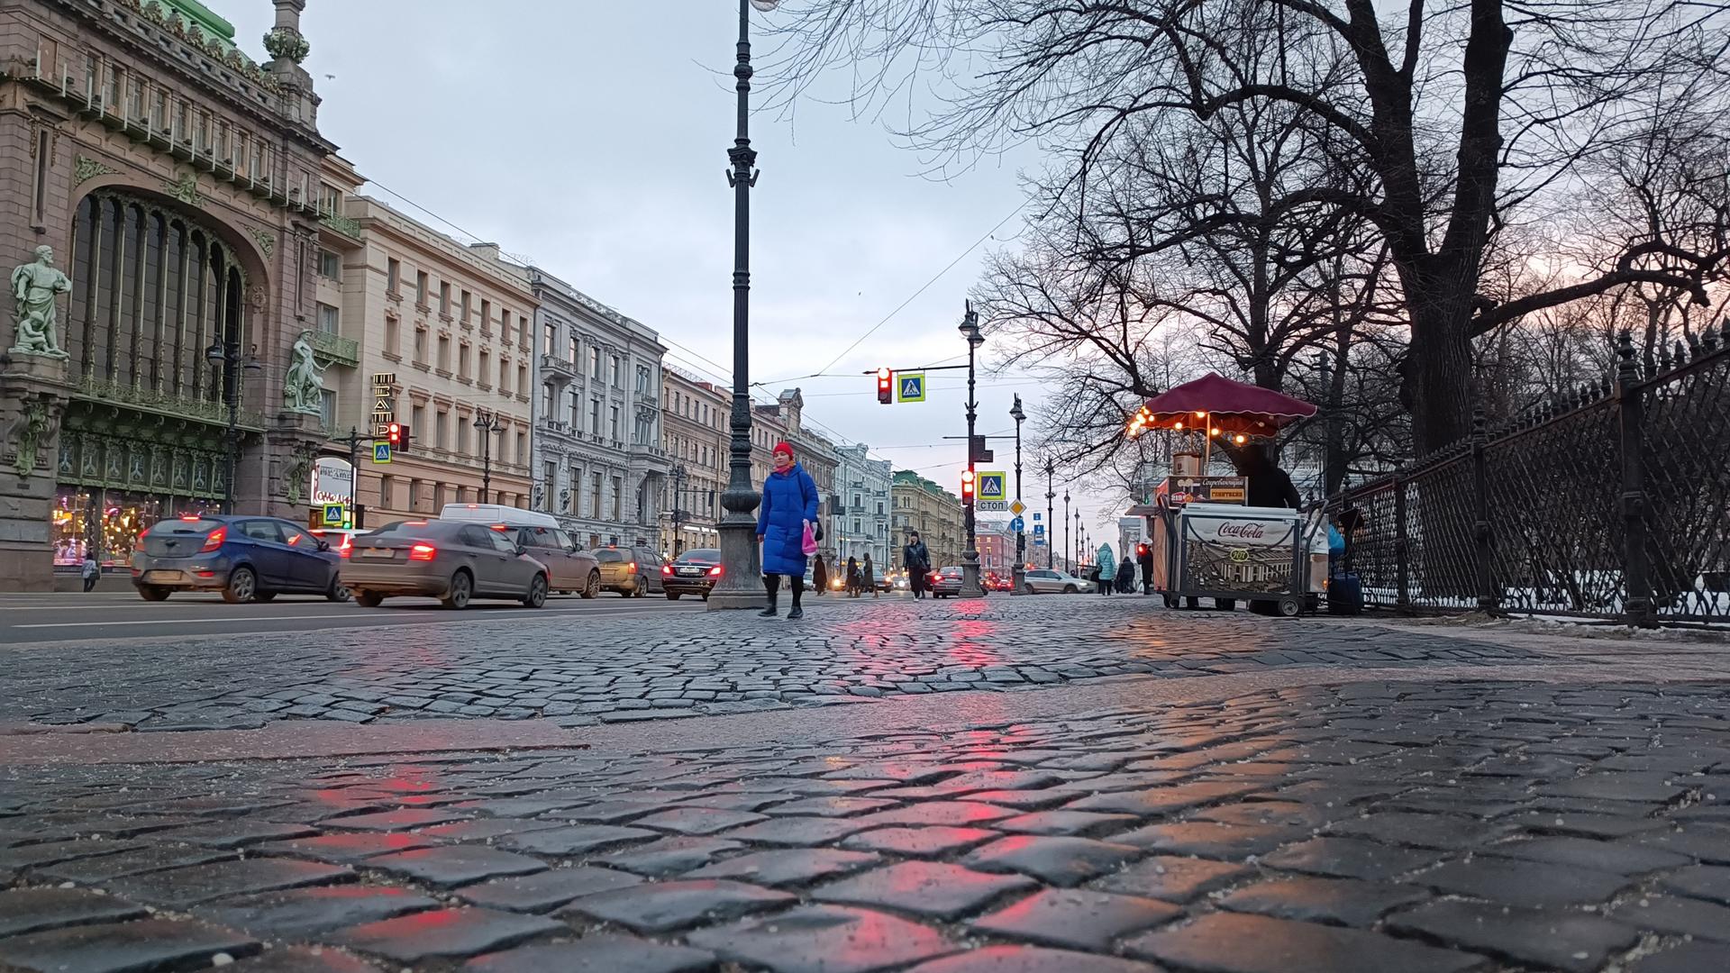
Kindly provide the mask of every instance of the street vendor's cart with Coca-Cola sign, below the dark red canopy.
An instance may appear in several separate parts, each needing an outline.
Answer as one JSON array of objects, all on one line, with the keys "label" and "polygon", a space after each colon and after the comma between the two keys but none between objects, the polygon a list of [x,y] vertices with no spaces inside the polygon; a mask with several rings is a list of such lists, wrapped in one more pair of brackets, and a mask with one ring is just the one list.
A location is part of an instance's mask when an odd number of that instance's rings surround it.
[{"label": "street vendor's cart with Coca-Cola sign, below the dark red canopy", "polygon": [[1318,518],[1233,504],[1161,504],[1159,516],[1164,563],[1154,566],[1154,590],[1166,608],[1201,597],[1221,611],[1247,601],[1285,618],[1315,608],[1327,578],[1325,540],[1315,552]]}]

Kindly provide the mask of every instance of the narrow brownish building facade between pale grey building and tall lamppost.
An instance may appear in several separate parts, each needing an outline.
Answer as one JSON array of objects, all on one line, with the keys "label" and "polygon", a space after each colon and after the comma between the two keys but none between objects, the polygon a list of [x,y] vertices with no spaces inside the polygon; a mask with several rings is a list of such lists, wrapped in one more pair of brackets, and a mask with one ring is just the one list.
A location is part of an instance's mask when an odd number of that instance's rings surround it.
[{"label": "narrow brownish building facade between pale grey building and tall lamppost", "polygon": [[721,544],[721,492],[727,490],[727,429],[732,393],[676,369],[661,369],[661,445],[673,462],[663,497],[661,551],[678,556]]}]

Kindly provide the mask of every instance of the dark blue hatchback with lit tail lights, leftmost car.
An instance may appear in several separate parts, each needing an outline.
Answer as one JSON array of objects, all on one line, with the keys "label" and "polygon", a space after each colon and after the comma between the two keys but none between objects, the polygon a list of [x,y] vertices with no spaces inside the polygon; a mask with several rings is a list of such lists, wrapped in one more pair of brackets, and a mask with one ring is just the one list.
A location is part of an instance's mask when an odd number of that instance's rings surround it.
[{"label": "dark blue hatchback with lit tail lights, leftmost car", "polygon": [[292,521],[240,514],[187,514],[138,535],[131,583],[144,601],[176,590],[216,590],[240,604],[279,594],[322,594],[348,601],[341,557]]}]

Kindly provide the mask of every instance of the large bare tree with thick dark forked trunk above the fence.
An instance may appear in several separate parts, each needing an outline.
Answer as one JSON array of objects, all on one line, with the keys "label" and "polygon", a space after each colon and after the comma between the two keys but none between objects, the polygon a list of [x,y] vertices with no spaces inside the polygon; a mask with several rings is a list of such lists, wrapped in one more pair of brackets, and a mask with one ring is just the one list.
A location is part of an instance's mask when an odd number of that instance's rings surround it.
[{"label": "large bare tree with thick dark forked trunk above the fence", "polygon": [[[1142,118],[1287,106],[1349,180],[1289,189],[1266,211],[1344,213],[1386,241],[1410,325],[1403,391],[1431,450],[1469,429],[1474,334],[1633,284],[1709,303],[1714,256],[1633,227],[1566,286],[1496,300],[1479,277],[1503,225],[1578,190],[1656,106],[1723,116],[1727,17],[1692,0],[1408,0],[1386,17],[1368,0],[794,0],[766,73],[791,97],[844,68],[860,111],[905,99],[901,132],[936,166],[1019,140],[1069,149],[1073,194]],[[1270,35],[1277,59],[1261,55]],[[939,104],[922,114],[926,85]]]}]

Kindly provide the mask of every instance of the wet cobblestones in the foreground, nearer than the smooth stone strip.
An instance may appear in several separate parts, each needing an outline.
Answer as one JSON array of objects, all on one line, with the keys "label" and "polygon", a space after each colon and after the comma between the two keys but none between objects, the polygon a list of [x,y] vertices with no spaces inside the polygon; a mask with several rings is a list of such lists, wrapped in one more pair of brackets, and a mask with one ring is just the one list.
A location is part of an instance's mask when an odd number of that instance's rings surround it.
[{"label": "wet cobblestones in the foreground, nearer than the smooth stone strip", "polygon": [[676,753],[0,769],[0,968],[1730,968],[1730,686]]}]

